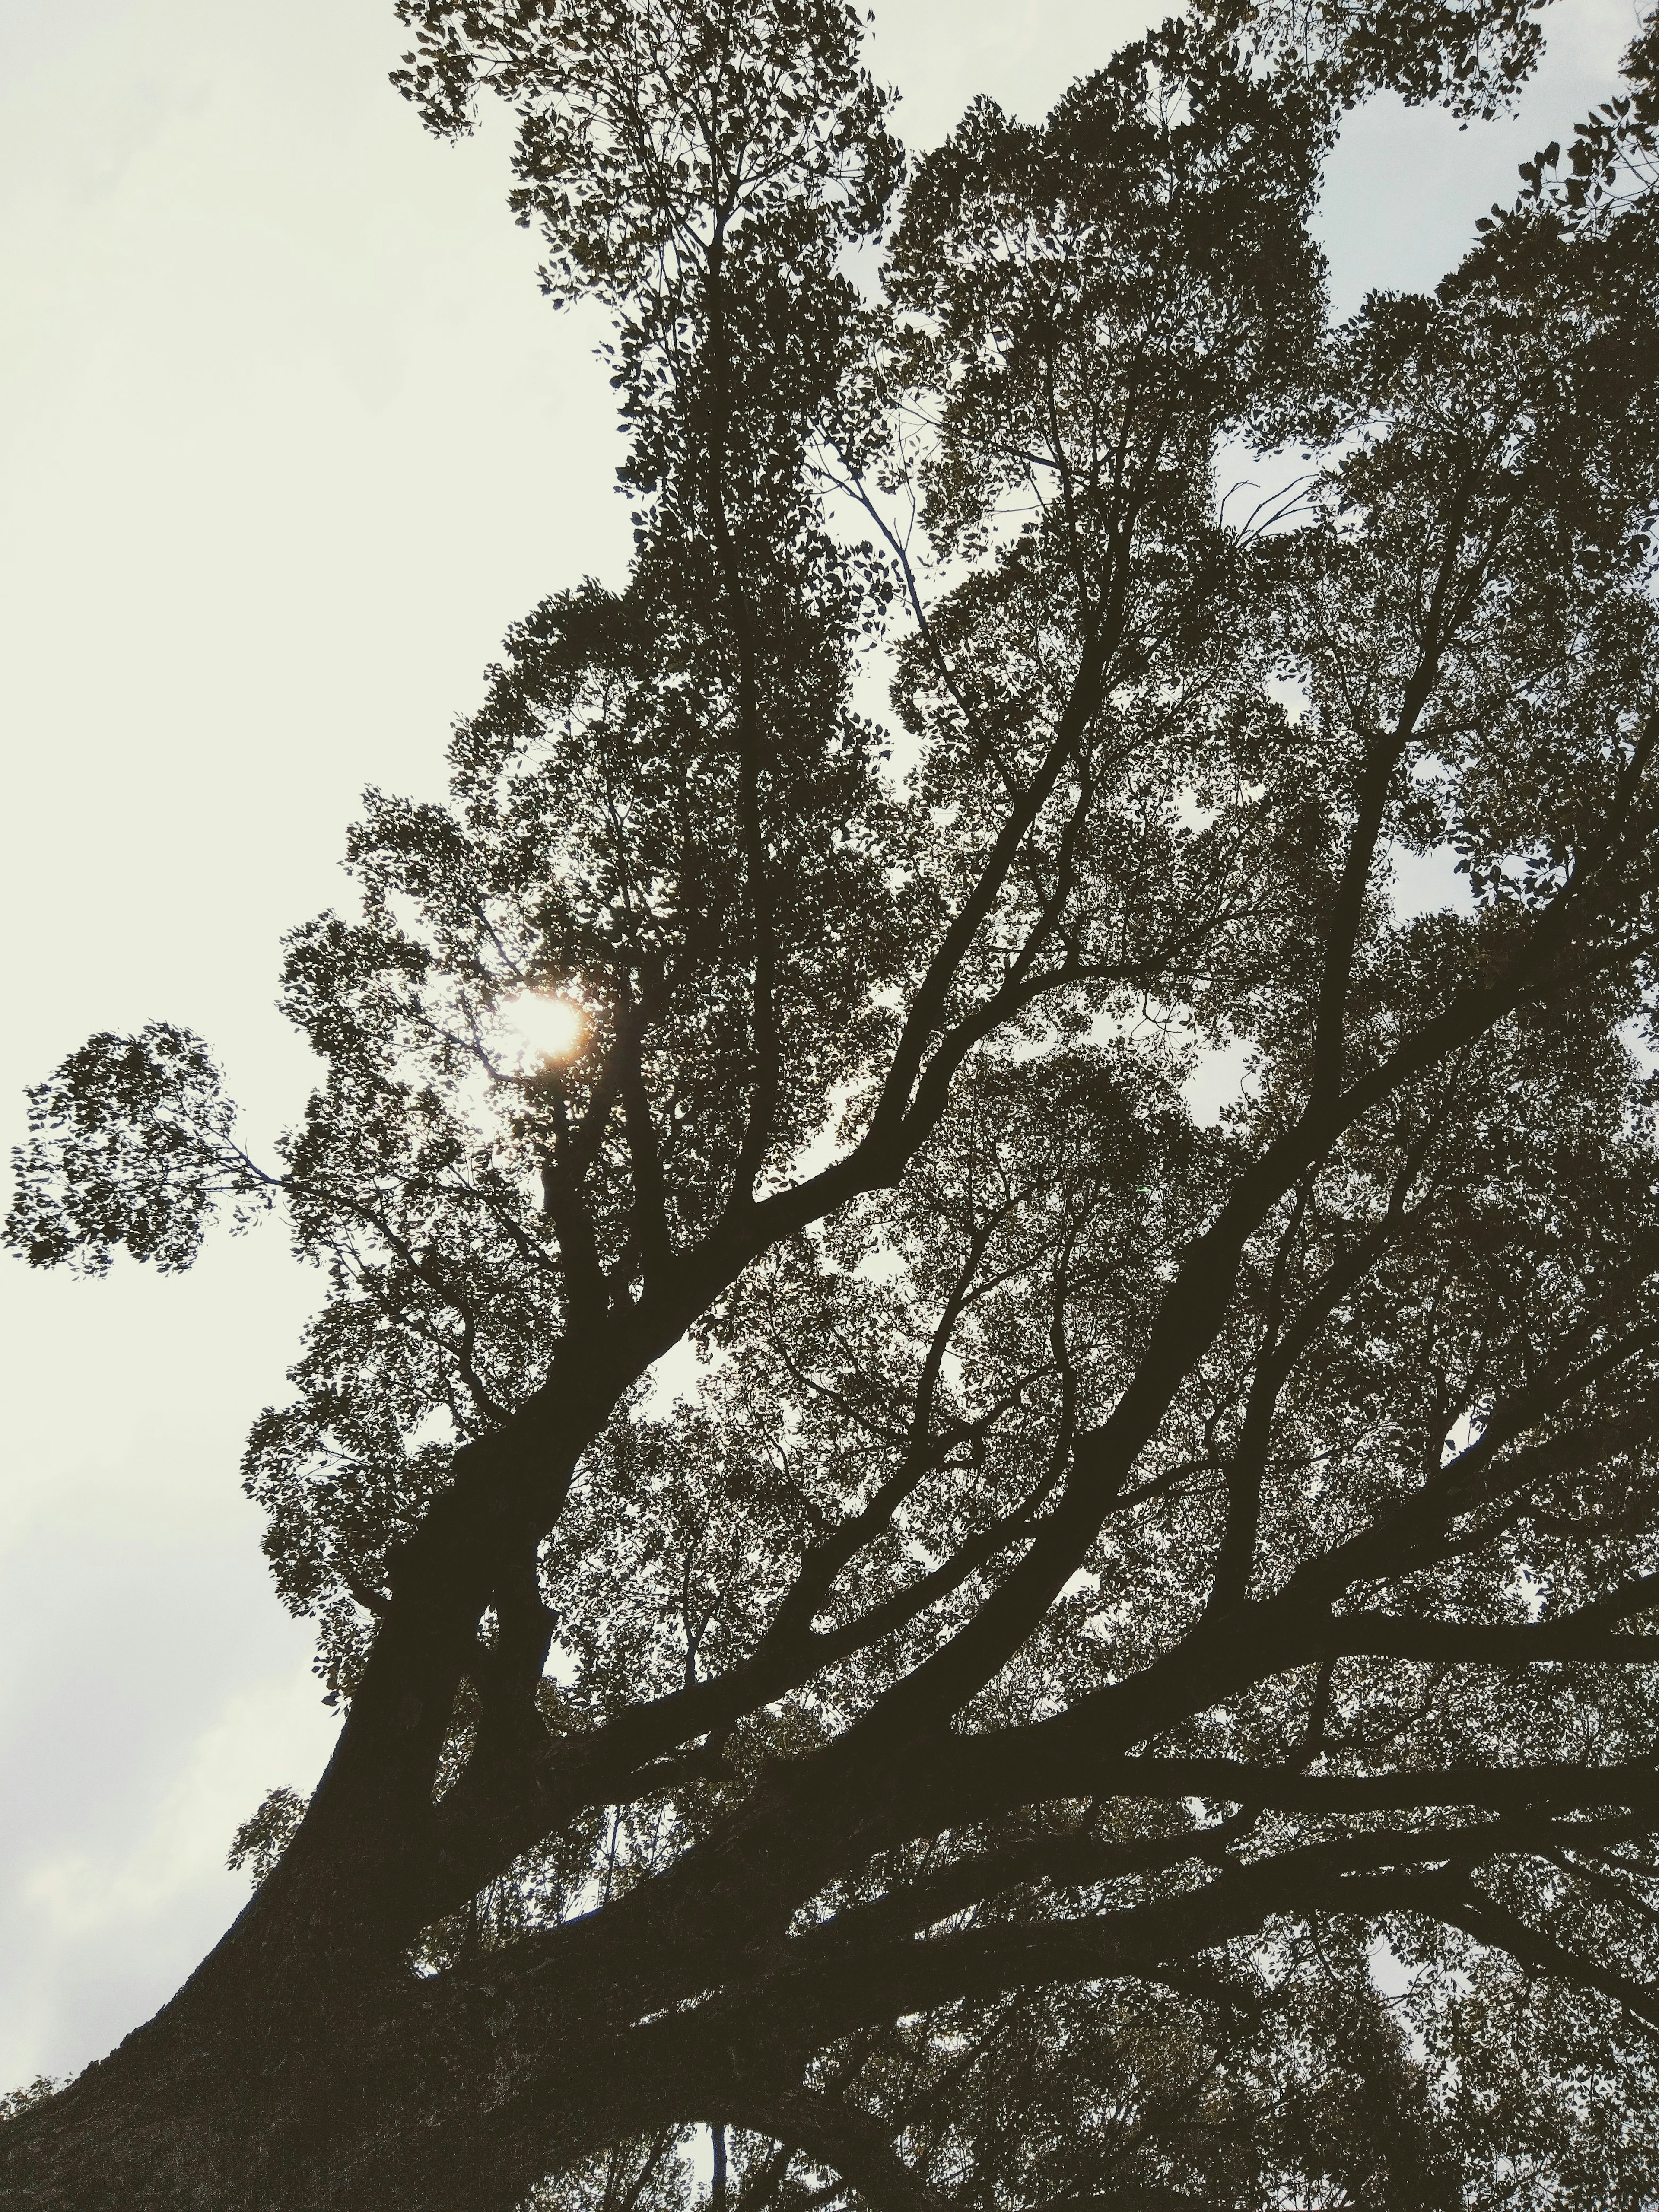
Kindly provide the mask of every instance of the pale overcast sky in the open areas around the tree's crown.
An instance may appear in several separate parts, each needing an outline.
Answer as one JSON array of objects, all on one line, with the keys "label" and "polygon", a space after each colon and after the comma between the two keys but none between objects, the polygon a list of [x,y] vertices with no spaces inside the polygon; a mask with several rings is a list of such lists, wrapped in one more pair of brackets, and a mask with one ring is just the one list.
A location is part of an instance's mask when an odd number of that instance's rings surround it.
[{"label": "pale overcast sky in the open areas around the tree's crown", "polygon": [[[1146,0],[887,0],[914,146],[1037,117]],[[1378,102],[1338,310],[1427,285],[1606,97],[1632,0],[1559,0],[1522,115]],[[599,327],[553,316],[504,133],[387,86],[389,0],[0,0],[0,1108],[95,1029],[201,1031],[259,1139],[305,1095],[276,940],[365,783],[436,792],[507,624],[619,575]],[[237,1486],[316,1290],[281,1230],[184,1279],[0,1265],[0,2090],[137,2026],[246,1896],[237,1823],[332,1723]]]}]

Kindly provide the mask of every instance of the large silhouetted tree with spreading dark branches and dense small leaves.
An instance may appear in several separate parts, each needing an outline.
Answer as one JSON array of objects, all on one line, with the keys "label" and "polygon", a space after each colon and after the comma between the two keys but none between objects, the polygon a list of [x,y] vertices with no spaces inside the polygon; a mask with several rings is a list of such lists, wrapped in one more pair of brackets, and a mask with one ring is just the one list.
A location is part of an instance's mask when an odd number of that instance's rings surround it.
[{"label": "large silhouetted tree with spreading dark branches and dense small leaves", "polygon": [[1329,330],[1340,104],[1531,7],[1221,7],[914,173],[841,0],[400,15],[635,560],[369,794],[276,1164],[168,1024],[33,1093],[33,1263],[323,1265],[246,1480],[347,1714],[7,2201],[1644,2201],[1652,31]]}]

